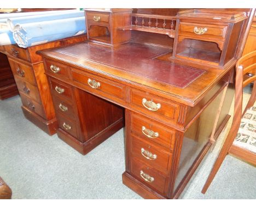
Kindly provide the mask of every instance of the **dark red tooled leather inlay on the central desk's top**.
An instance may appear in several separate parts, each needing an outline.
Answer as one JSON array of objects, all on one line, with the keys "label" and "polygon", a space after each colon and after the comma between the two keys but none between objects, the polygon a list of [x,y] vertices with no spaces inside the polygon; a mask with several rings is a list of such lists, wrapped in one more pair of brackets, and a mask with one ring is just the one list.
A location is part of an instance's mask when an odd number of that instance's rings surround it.
[{"label": "dark red tooled leather inlay on the central desk's top", "polygon": [[92,60],[104,65],[141,75],[153,79],[159,83],[166,83],[178,88],[185,88],[205,70],[191,68],[189,66],[162,62],[154,59],[171,52],[170,48],[128,42],[117,50],[96,47],[88,42],[57,50],[68,56]]}]

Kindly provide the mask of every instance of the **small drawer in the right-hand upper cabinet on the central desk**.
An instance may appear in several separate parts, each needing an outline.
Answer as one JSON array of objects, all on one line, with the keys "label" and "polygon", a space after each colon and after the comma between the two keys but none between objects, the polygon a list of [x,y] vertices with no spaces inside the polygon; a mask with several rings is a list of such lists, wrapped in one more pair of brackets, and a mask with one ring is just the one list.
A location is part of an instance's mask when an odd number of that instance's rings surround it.
[{"label": "small drawer in the right-hand upper cabinet on the central desk", "polygon": [[188,33],[188,35],[197,38],[217,38],[224,39],[228,26],[222,25],[204,25],[199,23],[181,22],[179,25],[180,34]]}]

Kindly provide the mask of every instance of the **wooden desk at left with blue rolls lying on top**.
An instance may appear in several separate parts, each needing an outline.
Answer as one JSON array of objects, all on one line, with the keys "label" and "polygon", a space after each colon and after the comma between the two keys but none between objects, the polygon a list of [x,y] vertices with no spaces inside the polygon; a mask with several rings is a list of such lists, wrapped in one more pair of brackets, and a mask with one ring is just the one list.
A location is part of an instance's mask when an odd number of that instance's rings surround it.
[{"label": "wooden desk at left with blue rolls lying on top", "polygon": [[8,90],[8,94],[20,94],[21,108],[25,117],[50,135],[56,133],[57,121],[49,85],[44,75],[42,57],[36,54],[36,51],[66,46],[84,40],[86,40],[86,35],[79,35],[28,48],[21,48],[18,45],[1,47],[1,52],[4,53],[1,56],[5,58],[5,63],[9,66],[11,77],[14,77],[12,79],[14,83],[11,85],[11,91]]}]

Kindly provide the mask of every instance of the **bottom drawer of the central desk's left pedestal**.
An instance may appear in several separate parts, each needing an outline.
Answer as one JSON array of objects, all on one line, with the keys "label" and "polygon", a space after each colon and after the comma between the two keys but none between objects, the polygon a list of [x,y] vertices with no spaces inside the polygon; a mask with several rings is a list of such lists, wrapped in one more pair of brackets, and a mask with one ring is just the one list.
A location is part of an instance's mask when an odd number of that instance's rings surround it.
[{"label": "bottom drawer of the central desk's left pedestal", "polygon": [[57,121],[60,129],[71,134],[73,137],[77,138],[77,124],[74,120],[63,117],[60,113],[56,113]]}]

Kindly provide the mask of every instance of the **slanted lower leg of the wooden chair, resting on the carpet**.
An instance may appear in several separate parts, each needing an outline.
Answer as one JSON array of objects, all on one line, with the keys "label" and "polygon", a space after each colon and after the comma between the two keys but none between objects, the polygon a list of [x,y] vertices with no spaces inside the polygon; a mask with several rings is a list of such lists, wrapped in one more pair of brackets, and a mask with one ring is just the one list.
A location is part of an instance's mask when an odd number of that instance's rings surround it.
[{"label": "slanted lower leg of the wooden chair, resting on the carpet", "polygon": [[215,161],[213,168],[211,170],[210,175],[208,176],[206,182],[205,182],[205,186],[203,186],[202,188],[202,193],[205,194],[205,192],[207,191],[207,189],[209,188],[209,186],[211,185],[216,173],[218,172],[220,166],[222,165],[222,162],[224,161],[226,155],[229,152],[230,146],[232,145],[232,142],[234,139],[232,139],[232,137],[234,138],[233,133],[230,131],[228,134],[228,137],[226,138],[222,150],[220,150],[219,155],[217,160]]}]

